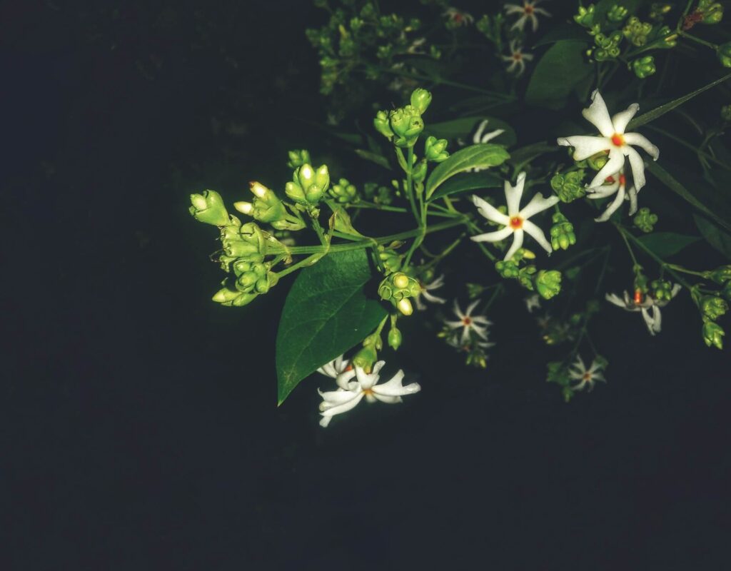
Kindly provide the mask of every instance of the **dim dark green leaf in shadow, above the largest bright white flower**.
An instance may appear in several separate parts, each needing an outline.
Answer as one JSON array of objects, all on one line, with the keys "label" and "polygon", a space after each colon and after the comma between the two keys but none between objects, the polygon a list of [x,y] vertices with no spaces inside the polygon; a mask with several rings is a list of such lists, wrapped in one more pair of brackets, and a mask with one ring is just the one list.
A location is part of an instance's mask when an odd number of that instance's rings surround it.
[{"label": "dim dark green leaf in shadow, above the largest bright white flower", "polygon": [[556,42],[540,58],[526,91],[526,103],[561,109],[575,86],[593,68],[584,61],[586,42],[564,39]]}]

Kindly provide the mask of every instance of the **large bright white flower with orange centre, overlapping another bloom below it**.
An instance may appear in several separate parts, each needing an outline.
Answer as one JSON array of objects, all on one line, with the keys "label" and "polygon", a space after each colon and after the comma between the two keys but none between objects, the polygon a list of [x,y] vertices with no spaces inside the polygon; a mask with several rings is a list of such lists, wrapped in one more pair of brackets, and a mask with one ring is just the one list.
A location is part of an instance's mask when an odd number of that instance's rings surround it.
[{"label": "large bright white flower with orange centre, overlapping another bloom below it", "polygon": [[645,186],[645,163],[640,154],[632,148],[632,145],[645,149],[654,160],[657,160],[660,156],[659,149],[643,135],[624,132],[629,121],[640,109],[640,105],[632,103],[626,110],[610,117],[607,104],[602,99],[602,94],[599,93],[598,89],[591,94],[591,100],[591,105],[583,110],[581,114],[587,121],[596,126],[596,129],[599,129],[601,136],[575,135],[573,137],[561,137],[557,140],[557,143],[565,147],[573,147],[574,160],[576,161],[582,161],[602,151],[608,151],[609,160],[607,164],[596,173],[594,180],[586,185],[589,188],[599,186],[610,175],[616,175],[624,167],[624,157],[626,156],[629,159],[629,166],[632,167],[632,180],[635,182],[635,189],[640,192],[640,189]]}]

